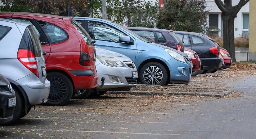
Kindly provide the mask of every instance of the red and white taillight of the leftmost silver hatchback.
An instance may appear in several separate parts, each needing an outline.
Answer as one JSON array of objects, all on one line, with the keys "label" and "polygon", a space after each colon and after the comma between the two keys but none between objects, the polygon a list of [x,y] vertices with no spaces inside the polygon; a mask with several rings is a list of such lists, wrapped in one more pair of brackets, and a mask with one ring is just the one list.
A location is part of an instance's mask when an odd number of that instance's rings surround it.
[{"label": "red and white taillight of the leftmost silver hatchback", "polygon": [[26,68],[39,77],[37,62],[33,52],[28,49],[19,49],[17,58]]}]

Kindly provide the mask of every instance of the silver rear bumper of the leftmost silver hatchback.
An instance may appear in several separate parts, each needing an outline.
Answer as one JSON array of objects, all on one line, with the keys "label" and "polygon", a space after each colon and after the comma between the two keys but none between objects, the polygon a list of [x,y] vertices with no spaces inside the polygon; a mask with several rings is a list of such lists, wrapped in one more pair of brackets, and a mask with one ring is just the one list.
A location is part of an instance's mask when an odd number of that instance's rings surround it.
[{"label": "silver rear bumper of the leftmost silver hatchback", "polygon": [[44,83],[40,82],[39,79],[33,81],[32,79],[34,78],[31,76],[35,75],[30,74],[13,83],[23,88],[28,96],[29,104],[35,105],[46,103],[50,93],[50,82],[47,79],[45,79]]}]

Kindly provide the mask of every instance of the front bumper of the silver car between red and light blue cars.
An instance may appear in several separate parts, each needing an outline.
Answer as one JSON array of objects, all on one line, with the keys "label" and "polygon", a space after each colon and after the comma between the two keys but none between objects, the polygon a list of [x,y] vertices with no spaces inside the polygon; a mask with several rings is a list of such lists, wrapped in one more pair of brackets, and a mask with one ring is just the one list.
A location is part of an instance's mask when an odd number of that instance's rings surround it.
[{"label": "front bumper of the silver car between red and light blue cars", "polygon": [[[111,67],[100,63],[97,65],[97,73],[99,76],[98,86],[101,86],[101,78],[105,78],[105,83],[97,91],[128,91],[137,85],[137,78],[132,78],[132,72],[137,71],[136,68],[129,67]],[[121,83],[114,82],[112,77],[119,78]]]}]

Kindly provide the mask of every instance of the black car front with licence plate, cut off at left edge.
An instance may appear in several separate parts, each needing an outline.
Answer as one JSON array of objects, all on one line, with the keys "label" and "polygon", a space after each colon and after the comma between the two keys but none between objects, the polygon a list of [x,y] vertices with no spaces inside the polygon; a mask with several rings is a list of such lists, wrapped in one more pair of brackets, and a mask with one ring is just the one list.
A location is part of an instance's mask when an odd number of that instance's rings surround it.
[{"label": "black car front with licence plate, cut off at left edge", "polygon": [[[0,31],[2,31],[1,26]],[[0,98],[0,124],[5,124],[13,119],[16,97],[10,82],[2,74],[0,74]]]}]

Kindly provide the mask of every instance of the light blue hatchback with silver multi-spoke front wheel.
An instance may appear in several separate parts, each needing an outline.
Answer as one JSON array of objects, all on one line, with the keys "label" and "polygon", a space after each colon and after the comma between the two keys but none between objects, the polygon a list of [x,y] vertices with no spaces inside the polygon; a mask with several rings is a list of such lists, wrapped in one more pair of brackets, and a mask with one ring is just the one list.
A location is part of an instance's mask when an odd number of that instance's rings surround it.
[{"label": "light blue hatchback with silver multi-spoke front wheel", "polygon": [[188,84],[190,81],[192,67],[185,53],[149,43],[109,20],[88,17],[74,19],[85,28],[92,40],[96,40],[95,46],[131,58],[137,67],[142,84],[163,86],[169,82]]}]

